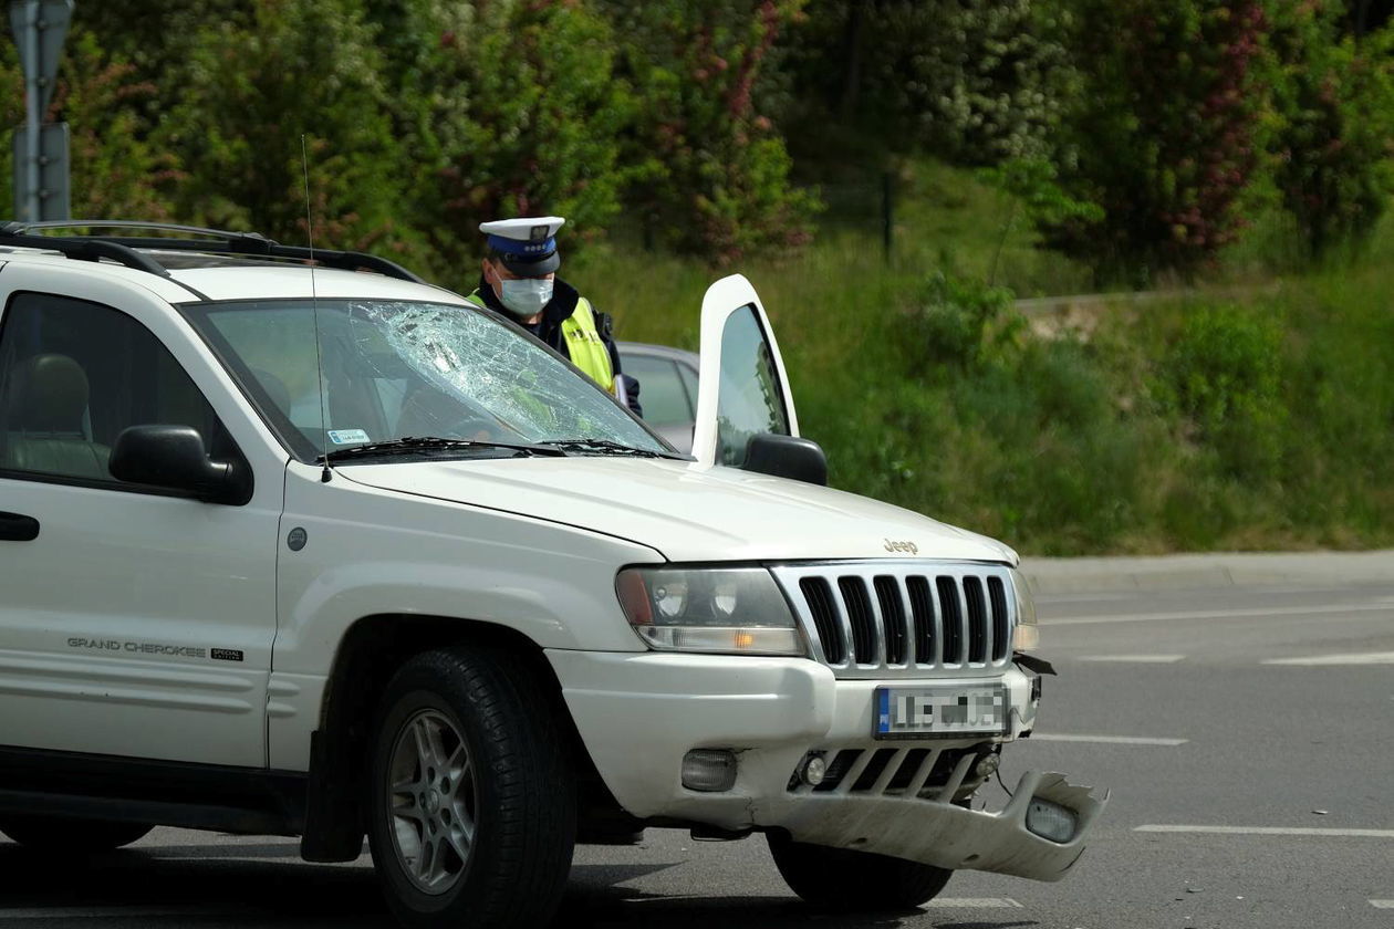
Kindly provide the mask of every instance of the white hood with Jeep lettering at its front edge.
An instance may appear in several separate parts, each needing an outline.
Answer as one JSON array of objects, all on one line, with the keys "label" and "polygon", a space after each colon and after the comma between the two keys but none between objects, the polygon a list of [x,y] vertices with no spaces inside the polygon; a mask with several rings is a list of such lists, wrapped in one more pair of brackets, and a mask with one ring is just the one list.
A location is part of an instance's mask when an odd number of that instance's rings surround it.
[{"label": "white hood with Jeep lettering at its front edge", "polygon": [[580,526],[671,561],[951,559],[1016,564],[999,542],[797,481],[659,458],[572,457],[340,465],[385,490]]}]

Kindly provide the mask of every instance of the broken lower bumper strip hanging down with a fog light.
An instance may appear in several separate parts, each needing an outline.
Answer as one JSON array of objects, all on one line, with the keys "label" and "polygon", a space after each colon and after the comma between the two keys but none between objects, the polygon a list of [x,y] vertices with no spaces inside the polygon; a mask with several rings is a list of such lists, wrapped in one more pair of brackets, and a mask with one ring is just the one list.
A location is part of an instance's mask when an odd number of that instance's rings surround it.
[{"label": "broken lower bumper strip hanging down with a fog light", "polygon": [[757,802],[756,822],[786,829],[795,841],[953,871],[1059,880],[1085,852],[1093,823],[1108,802],[1107,794],[1096,798],[1092,788],[1046,772],[1023,774],[1011,802],[997,813],[955,805],[956,786],[945,787],[934,793],[873,788],[857,794],[802,788],[785,801]]}]

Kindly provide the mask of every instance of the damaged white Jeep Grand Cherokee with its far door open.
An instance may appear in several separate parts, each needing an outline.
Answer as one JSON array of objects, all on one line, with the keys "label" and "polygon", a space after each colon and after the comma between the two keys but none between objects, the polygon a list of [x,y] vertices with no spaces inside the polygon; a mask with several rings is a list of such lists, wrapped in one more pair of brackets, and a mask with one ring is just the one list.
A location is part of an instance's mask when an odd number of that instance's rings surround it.
[{"label": "damaged white Jeep Grand Cherokee with its far door open", "polygon": [[0,227],[4,833],[367,834],[414,926],[542,923],[644,827],[764,833],[843,908],[1071,869],[1087,788],[969,802],[1048,667],[1016,554],[818,486],[743,277],[689,457],[457,294],[308,258]]}]

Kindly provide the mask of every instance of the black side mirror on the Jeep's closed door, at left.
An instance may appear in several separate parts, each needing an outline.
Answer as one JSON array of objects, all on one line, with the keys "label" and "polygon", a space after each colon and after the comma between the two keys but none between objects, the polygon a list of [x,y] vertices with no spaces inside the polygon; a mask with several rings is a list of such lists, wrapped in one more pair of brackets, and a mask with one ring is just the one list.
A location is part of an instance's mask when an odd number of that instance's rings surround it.
[{"label": "black side mirror on the Jeep's closed door, at left", "polygon": [[205,503],[241,506],[252,499],[241,462],[213,461],[192,426],[131,426],[116,437],[112,476],[131,483],[188,490]]}]

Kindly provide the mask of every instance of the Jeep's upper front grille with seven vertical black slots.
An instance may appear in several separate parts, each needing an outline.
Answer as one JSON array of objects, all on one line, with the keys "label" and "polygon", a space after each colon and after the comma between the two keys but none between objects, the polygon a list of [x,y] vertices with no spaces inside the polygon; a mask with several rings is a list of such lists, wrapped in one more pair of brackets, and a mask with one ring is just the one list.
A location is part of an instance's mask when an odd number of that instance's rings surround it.
[{"label": "Jeep's upper front grille with seven vertical black slots", "polygon": [[1009,570],[973,563],[779,565],[775,577],[838,677],[914,677],[1006,664]]}]

